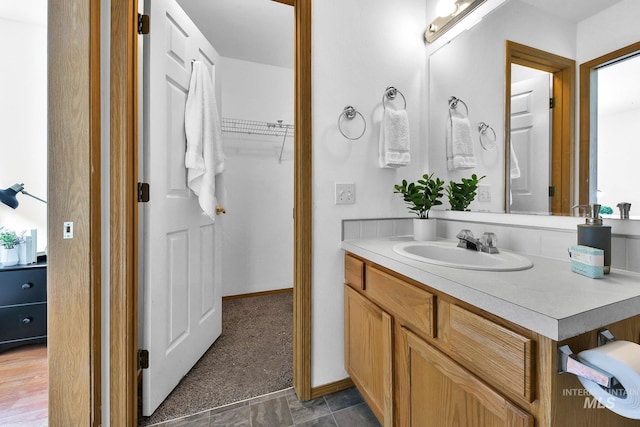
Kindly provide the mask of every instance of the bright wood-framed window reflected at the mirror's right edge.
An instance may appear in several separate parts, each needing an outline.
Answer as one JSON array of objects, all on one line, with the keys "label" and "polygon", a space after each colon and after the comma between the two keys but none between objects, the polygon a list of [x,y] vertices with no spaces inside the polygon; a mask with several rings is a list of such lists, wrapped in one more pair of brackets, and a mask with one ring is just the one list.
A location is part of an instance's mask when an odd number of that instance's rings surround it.
[{"label": "bright wood-framed window reflected at the mirror's right edge", "polygon": [[640,42],[580,66],[580,204],[640,219],[634,172],[640,156]]}]

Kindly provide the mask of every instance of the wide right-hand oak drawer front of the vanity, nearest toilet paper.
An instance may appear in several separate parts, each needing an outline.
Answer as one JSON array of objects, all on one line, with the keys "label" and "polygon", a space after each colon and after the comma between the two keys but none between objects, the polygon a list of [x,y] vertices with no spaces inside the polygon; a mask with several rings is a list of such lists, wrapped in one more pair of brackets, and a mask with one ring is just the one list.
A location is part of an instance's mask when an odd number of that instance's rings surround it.
[{"label": "wide right-hand oak drawer front of the vanity, nearest toilet paper", "polygon": [[456,305],[450,307],[451,351],[474,373],[533,402],[534,342]]}]

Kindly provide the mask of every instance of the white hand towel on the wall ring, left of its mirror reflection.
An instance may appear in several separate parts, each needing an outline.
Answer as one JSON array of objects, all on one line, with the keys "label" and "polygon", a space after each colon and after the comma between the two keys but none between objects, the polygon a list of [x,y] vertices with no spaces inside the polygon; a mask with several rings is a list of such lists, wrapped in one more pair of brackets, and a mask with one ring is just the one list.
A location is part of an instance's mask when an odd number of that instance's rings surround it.
[{"label": "white hand towel on the wall ring, left of its mirror reflection", "polygon": [[384,109],[380,122],[378,165],[398,168],[411,161],[409,144],[409,117],[406,110]]}]

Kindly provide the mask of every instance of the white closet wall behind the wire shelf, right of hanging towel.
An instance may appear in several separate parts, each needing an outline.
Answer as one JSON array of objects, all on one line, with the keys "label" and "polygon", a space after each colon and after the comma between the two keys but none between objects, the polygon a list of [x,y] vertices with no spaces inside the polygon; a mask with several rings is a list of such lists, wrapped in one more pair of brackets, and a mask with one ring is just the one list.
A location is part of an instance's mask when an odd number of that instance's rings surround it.
[{"label": "white closet wall behind the wire shelf, right of hanging towel", "polygon": [[[285,47],[282,47],[283,49]],[[221,58],[223,117],[293,123],[293,69]],[[293,286],[293,138],[223,133],[223,295]]]}]

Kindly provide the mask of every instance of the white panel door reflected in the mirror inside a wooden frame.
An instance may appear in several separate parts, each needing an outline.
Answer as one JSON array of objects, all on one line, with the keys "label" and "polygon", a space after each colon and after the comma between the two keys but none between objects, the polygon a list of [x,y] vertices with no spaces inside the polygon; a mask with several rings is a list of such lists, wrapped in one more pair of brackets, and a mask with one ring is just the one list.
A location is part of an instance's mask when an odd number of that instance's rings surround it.
[{"label": "white panel door reflected in the mirror inside a wooden frame", "polygon": [[511,212],[550,211],[550,74],[511,85],[511,145],[520,177],[511,179]]}]

